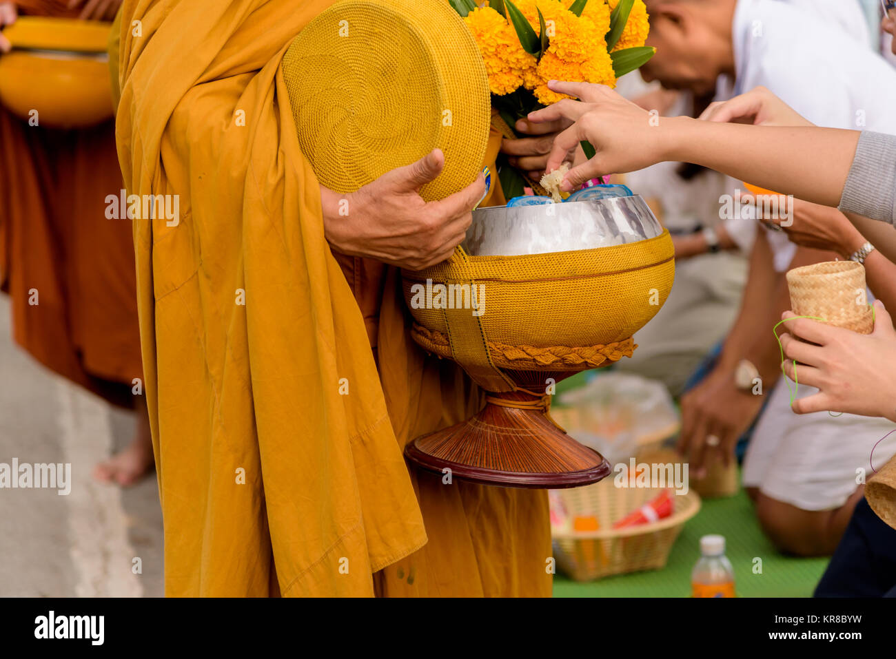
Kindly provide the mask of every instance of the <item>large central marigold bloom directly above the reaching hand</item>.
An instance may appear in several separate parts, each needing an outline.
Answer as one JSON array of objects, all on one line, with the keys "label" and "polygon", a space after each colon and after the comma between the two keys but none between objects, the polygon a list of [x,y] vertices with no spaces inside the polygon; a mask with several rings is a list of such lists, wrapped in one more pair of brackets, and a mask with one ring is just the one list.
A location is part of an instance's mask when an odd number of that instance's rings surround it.
[{"label": "large central marigold bloom directly above the reaching hand", "polygon": [[[568,0],[567,0],[568,2]],[[545,19],[550,44],[534,73],[523,76],[523,84],[535,93],[540,103],[549,105],[565,94],[547,89],[549,80],[587,81],[616,86],[613,62],[607,53],[604,39],[609,29],[609,8],[599,0],[592,16],[576,16],[564,0],[520,0],[515,3],[521,13],[538,32],[538,11]],[[587,11],[587,5],[586,5]],[[595,19],[598,22],[595,22]]]}]

